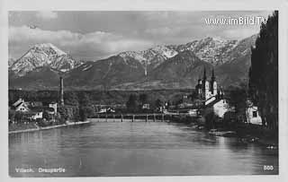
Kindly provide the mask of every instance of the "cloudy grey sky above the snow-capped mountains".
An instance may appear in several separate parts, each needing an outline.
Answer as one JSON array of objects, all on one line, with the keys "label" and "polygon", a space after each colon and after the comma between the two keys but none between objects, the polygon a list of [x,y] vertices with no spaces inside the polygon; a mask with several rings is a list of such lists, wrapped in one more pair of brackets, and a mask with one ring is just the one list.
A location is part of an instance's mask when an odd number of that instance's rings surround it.
[{"label": "cloudy grey sky above the snow-capped mountains", "polygon": [[[245,39],[260,24],[211,25],[207,18],[265,17],[271,11],[234,12],[9,12],[9,57],[18,59],[39,43],[52,43],[78,60],[194,39]],[[36,26],[36,29],[31,29]]]}]

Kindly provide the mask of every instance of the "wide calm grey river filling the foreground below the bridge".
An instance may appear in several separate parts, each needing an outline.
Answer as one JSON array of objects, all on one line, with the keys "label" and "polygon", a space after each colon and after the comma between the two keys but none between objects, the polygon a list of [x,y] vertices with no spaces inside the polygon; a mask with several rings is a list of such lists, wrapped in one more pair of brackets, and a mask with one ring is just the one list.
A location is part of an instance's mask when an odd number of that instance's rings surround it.
[{"label": "wide calm grey river filling the foreground below the bridge", "polygon": [[[277,153],[184,124],[92,119],[91,124],[84,126],[9,134],[9,174],[11,177],[277,174]],[[269,166],[266,170],[265,165]],[[58,168],[65,172],[40,170]]]}]

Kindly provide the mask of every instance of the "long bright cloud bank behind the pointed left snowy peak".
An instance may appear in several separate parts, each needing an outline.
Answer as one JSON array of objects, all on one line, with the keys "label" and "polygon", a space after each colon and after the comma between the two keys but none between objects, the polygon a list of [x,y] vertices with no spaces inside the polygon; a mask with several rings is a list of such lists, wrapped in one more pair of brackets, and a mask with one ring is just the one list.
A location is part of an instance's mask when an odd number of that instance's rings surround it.
[{"label": "long bright cloud bank behind the pointed left snowy peak", "polygon": [[129,38],[104,31],[81,34],[70,30],[31,29],[27,26],[9,28],[9,54],[11,52],[22,56],[34,44],[47,42],[72,56],[89,60],[153,46],[153,42],[146,39]]}]

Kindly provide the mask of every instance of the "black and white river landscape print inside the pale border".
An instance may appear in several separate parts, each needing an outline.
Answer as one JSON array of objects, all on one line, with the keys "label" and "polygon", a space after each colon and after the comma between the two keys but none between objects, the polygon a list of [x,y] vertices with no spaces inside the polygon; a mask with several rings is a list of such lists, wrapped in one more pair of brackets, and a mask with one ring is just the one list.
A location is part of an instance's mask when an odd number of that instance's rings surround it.
[{"label": "black and white river landscape print inside the pale border", "polygon": [[279,175],[279,13],[9,11],[8,175]]}]

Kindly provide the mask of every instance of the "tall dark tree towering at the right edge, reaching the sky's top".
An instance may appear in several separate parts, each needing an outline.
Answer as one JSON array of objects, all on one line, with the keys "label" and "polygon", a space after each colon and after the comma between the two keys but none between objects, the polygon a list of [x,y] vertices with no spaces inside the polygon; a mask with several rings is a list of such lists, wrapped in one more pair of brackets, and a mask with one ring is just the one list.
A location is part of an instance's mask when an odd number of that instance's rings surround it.
[{"label": "tall dark tree towering at the right edge, reaching the sky's top", "polygon": [[255,48],[251,48],[249,95],[263,123],[278,126],[278,12],[262,23]]}]

